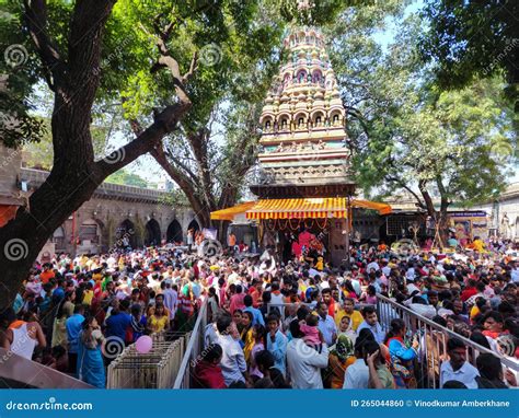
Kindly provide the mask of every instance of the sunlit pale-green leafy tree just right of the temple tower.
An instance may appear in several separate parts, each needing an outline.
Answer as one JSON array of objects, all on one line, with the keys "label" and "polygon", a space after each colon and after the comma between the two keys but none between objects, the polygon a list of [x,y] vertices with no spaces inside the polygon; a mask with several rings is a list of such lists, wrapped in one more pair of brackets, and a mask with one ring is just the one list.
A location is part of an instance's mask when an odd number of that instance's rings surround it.
[{"label": "sunlit pale-green leafy tree just right of the temple tower", "polygon": [[337,50],[350,45],[350,53],[335,59],[360,186],[380,195],[405,188],[445,230],[453,201],[470,205],[504,187],[515,117],[496,79],[452,92],[428,83],[416,49],[420,31],[420,20],[408,16],[384,54],[372,38],[345,28],[334,42]]}]

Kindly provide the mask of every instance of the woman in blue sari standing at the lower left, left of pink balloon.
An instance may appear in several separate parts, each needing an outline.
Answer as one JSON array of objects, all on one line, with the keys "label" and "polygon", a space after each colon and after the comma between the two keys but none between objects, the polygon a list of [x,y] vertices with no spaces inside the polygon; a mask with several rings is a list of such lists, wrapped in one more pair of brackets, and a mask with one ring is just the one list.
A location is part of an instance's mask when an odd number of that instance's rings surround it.
[{"label": "woman in blue sari standing at the lower left, left of pink balloon", "polygon": [[105,371],[101,353],[103,334],[94,316],[84,320],[82,328],[79,334],[78,376],[92,386],[104,388]]}]

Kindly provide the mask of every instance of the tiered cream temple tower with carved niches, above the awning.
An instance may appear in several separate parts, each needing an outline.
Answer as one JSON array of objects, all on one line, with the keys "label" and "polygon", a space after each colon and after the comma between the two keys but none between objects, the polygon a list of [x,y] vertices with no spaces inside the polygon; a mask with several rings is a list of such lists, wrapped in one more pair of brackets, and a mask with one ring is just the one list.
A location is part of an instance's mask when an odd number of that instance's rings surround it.
[{"label": "tiered cream temple tower with carved niches, above the awning", "polygon": [[265,100],[260,182],[251,191],[260,198],[351,195],[345,109],[323,36],[299,28],[284,46],[289,61]]}]

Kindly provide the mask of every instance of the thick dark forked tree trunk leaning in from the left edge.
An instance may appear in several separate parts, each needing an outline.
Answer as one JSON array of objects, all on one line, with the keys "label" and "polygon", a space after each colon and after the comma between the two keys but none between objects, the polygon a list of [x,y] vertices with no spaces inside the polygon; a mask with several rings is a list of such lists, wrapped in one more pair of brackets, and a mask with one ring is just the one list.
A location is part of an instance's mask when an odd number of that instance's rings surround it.
[{"label": "thick dark forked tree trunk leaning in from the left edge", "polygon": [[[153,124],[135,140],[106,159],[93,161],[91,111],[100,83],[104,25],[114,3],[115,0],[76,2],[67,60],[64,60],[46,32],[46,2],[25,2],[27,31],[43,67],[53,74],[49,86],[55,92],[51,119],[54,164],[44,184],[32,194],[30,205],[20,208],[15,218],[0,229],[0,309],[12,303],[54,231],[91,198],[104,178],[150,152],[166,133],[176,129],[192,105],[184,82],[194,71],[196,56],[184,76],[178,73],[176,61],[168,56],[178,100],[159,113]],[[168,50],[162,54],[168,54]]]}]

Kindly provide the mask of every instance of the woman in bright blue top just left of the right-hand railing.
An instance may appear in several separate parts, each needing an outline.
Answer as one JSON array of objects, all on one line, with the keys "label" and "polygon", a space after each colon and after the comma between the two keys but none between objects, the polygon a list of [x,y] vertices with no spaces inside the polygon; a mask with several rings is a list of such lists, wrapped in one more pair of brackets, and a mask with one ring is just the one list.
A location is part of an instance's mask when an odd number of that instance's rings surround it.
[{"label": "woman in bright blue top just left of the right-hand railing", "polygon": [[418,356],[418,340],[414,339],[412,347],[404,342],[405,323],[395,318],[391,321],[391,329],[385,336],[384,345],[389,348],[391,373],[396,388],[416,388],[413,373],[413,361]]}]

